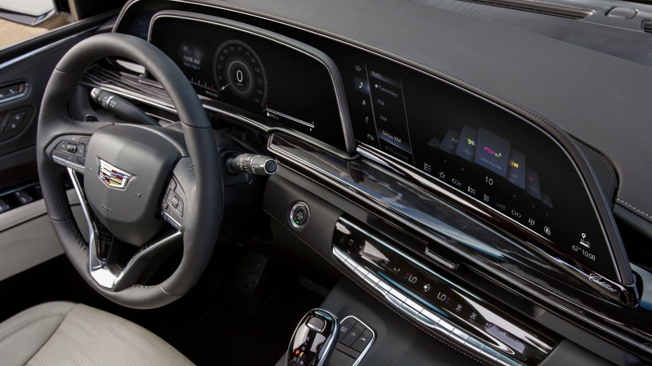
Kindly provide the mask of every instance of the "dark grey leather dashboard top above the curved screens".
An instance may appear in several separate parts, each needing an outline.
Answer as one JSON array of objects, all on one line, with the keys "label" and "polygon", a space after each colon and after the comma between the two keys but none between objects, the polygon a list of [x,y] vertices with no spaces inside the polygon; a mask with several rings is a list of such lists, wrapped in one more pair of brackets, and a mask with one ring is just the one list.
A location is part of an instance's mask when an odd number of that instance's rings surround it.
[{"label": "dark grey leather dashboard top above the curved screens", "polygon": [[614,163],[616,203],[652,222],[647,66],[407,0],[228,3],[387,49],[552,120]]}]

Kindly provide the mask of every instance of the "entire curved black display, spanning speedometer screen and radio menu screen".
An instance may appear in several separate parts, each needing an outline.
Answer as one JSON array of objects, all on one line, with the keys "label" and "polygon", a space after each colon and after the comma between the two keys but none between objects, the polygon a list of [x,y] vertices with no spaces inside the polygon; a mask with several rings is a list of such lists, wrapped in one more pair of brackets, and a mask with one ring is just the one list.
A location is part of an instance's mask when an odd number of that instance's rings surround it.
[{"label": "entire curved black display, spanning speedometer screen and radio menu screen", "polygon": [[[606,235],[576,163],[533,122],[440,79],[326,40],[308,46],[185,12],[156,13],[148,37],[200,96],[337,150],[346,151],[350,125],[357,143],[526,229],[556,260],[631,281],[618,262],[621,244]],[[346,113],[340,113],[338,88],[346,91]]]}]

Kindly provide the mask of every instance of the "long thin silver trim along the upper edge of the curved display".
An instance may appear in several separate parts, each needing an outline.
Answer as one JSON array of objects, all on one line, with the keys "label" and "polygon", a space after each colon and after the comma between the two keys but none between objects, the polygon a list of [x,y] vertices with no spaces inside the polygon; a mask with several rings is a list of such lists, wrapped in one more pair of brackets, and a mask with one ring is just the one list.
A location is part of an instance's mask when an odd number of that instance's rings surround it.
[{"label": "long thin silver trim along the upper edge of the curved display", "polygon": [[[134,0],[134,1],[132,1],[131,3],[129,3],[128,5],[126,5],[126,7],[124,7],[124,8],[121,10],[121,12],[120,12],[120,14],[119,14],[119,16],[118,16],[118,18],[117,18],[117,21],[115,22],[115,25],[113,26],[113,32],[116,31],[118,25],[120,24],[120,22],[121,22],[121,20],[122,20],[122,18],[123,18],[123,16],[124,16],[124,14],[128,11],[128,9],[129,9],[132,5],[134,5],[135,3],[138,3],[139,1],[141,1],[141,0]],[[438,81],[442,81],[443,83],[447,83],[448,85],[451,85],[452,87],[455,87],[455,88],[457,88],[457,89],[460,89],[461,91],[467,92],[467,93],[469,93],[469,94],[471,94],[471,95],[473,95],[473,96],[475,96],[475,97],[477,97],[477,98],[480,98],[481,100],[484,100],[485,102],[488,102],[488,103],[492,104],[493,106],[499,107],[500,109],[503,109],[504,111],[507,111],[508,113],[510,113],[511,115],[514,115],[514,116],[517,117],[518,119],[524,120],[524,122],[527,122],[527,123],[530,124],[531,126],[537,128],[537,130],[539,130],[540,132],[542,132],[542,134],[544,134],[544,135],[546,135],[546,137],[550,138],[550,139],[551,139],[551,140],[552,140],[552,141],[553,141],[553,142],[554,142],[554,143],[555,143],[559,148],[561,148],[561,150],[564,152],[564,154],[566,154],[567,158],[569,158],[569,160],[571,161],[573,167],[574,167],[575,170],[576,170],[576,173],[578,173],[578,176],[580,177],[580,180],[582,180],[582,184],[584,185],[584,189],[585,189],[585,191],[586,191],[586,193],[587,193],[587,195],[588,195],[588,197],[589,197],[589,201],[591,202],[591,205],[593,206],[593,211],[594,211],[594,213],[595,213],[595,216],[596,216],[596,218],[599,220],[600,228],[602,229],[602,235],[604,236],[604,239],[605,239],[606,243],[608,243],[610,256],[611,256],[612,262],[613,262],[613,264],[614,264],[614,268],[616,268],[616,273],[617,273],[617,276],[618,276],[617,280],[620,281],[620,282],[623,281],[623,278],[622,278],[622,275],[621,275],[621,268],[618,266],[617,260],[615,260],[613,244],[612,244],[611,240],[609,240],[609,236],[608,236],[608,234],[607,234],[607,232],[606,232],[606,227],[605,227],[604,221],[602,220],[602,217],[600,216],[600,214],[599,214],[599,212],[598,212],[598,210],[597,210],[597,206],[596,206],[597,203],[595,202],[595,198],[594,198],[593,195],[591,194],[591,191],[589,191],[589,188],[588,188],[588,186],[587,186],[587,183],[586,183],[586,180],[585,180],[585,178],[584,178],[584,175],[582,175],[580,169],[578,168],[576,162],[575,162],[575,161],[572,159],[572,157],[570,156],[569,152],[568,152],[568,151],[567,151],[563,146],[561,146],[561,144],[560,144],[556,139],[554,139],[554,138],[552,138],[552,136],[548,135],[548,133],[545,132],[544,130],[542,130],[542,128],[539,127],[537,124],[534,124],[534,123],[531,122],[530,120],[527,120],[526,118],[524,118],[524,117],[518,115],[518,113],[514,113],[514,112],[511,111],[510,109],[507,109],[506,107],[503,107],[503,106],[501,106],[501,105],[499,105],[499,104],[496,104],[496,102],[493,102],[492,100],[488,100],[488,99],[485,98],[484,96],[481,96],[481,95],[479,95],[479,94],[477,94],[477,93],[475,93],[475,92],[473,92],[473,91],[469,91],[469,90],[465,89],[464,87],[460,87],[459,85],[456,85],[456,84],[452,83],[451,81],[447,81],[447,80],[445,80],[445,79],[442,79],[442,78],[439,77],[439,76],[436,76],[436,75],[430,74],[430,72],[426,72],[426,71],[424,71],[424,70],[421,70],[420,68],[416,68],[415,66],[412,66],[412,65],[410,65],[410,64],[404,63],[403,61],[399,61],[398,59],[393,59],[392,57],[389,57],[389,56],[387,56],[387,55],[383,55],[383,54],[378,53],[378,52],[376,52],[376,51],[373,51],[373,50],[371,50],[371,49],[361,47],[361,46],[359,46],[359,45],[357,45],[357,44],[353,44],[352,42],[346,42],[345,40],[341,40],[341,39],[335,38],[335,37],[330,36],[330,35],[325,35],[325,34],[323,34],[323,33],[319,33],[319,32],[317,32],[317,31],[313,31],[312,29],[308,29],[308,28],[306,28],[306,27],[300,27],[300,26],[298,26],[298,25],[293,25],[293,24],[290,24],[290,23],[288,23],[288,22],[286,22],[286,21],[280,21],[280,20],[276,20],[276,19],[271,19],[271,18],[269,18],[269,17],[266,18],[266,17],[264,17],[264,16],[259,16],[259,15],[257,15],[257,14],[251,14],[250,12],[246,12],[246,11],[243,11],[243,10],[238,10],[238,9],[235,9],[235,8],[228,8],[228,7],[224,7],[224,6],[218,6],[218,5],[208,5],[208,4],[203,4],[203,3],[194,3],[194,2],[192,2],[192,1],[188,1],[188,0],[166,0],[166,1],[175,2],[175,3],[185,3],[185,4],[199,5],[199,6],[203,6],[203,7],[216,8],[216,9],[219,9],[219,10],[225,10],[225,11],[228,11],[228,12],[234,12],[234,13],[237,13],[237,14],[243,14],[243,15],[245,15],[245,16],[252,16],[252,17],[254,17],[254,18],[259,18],[259,19],[267,20],[267,21],[273,21],[274,23],[278,23],[278,24],[286,25],[286,26],[288,26],[288,27],[292,27],[292,28],[295,28],[295,29],[299,29],[299,30],[301,30],[301,31],[305,31],[305,32],[311,33],[311,34],[313,34],[313,35],[317,35],[317,36],[321,36],[321,37],[324,37],[324,38],[328,38],[328,39],[330,39],[330,40],[334,40],[335,42],[339,42],[339,43],[341,43],[341,44],[346,44],[346,45],[351,46],[351,47],[353,47],[353,48],[357,48],[357,49],[360,49],[360,50],[362,50],[362,51],[366,51],[366,52],[368,52],[368,53],[371,53],[372,55],[376,55],[376,56],[378,56],[378,57],[381,57],[381,58],[386,59],[386,60],[388,60],[388,61],[391,61],[391,62],[393,62],[393,63],[400,64],[400,65],[402,65],[402,66],[406,66],[406,67],[408,67],[408,68],[411,69],[411,70],[414,70],[414,71],[416,71],[416,72],[419,72],[419,73],[421,73],[421,74],[424,74],[425,76],[432,77],[433,79],[436,79],[436,80],[438,80]],[[269,15],[273,15],[273,14],[269,14]],[[278,17],[281,18],[281,16],[278,16]],[[369,45],[369,46],[372,46],[372,45]],[[388,51],[388,52],[389,52],[389,53],[393,53],[392,51]],[[397,55],[397,54],[396,54],[396,57],[400,57],[400,55]],[[380,152],[381,154],[385,154],[385,153],[383,153],[383,152],[381,152],[381,151],[379,151],[379,152]],[[390,156],[390,158],[393,158],[393,157]]]}]

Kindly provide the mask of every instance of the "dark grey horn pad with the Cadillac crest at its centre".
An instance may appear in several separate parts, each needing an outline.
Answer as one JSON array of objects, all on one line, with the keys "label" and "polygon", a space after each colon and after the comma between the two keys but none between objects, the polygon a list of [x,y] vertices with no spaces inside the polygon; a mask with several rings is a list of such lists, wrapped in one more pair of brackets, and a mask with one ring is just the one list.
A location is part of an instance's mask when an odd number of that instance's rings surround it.
[{"label": "dark grey horn pad with the Cadillac crest at its centre", "polygon": [[141,246],[164,225],[160,199],[179,151],[154,130],[108,126],[91,137],[84,189],[98,220],[118,239]]}]

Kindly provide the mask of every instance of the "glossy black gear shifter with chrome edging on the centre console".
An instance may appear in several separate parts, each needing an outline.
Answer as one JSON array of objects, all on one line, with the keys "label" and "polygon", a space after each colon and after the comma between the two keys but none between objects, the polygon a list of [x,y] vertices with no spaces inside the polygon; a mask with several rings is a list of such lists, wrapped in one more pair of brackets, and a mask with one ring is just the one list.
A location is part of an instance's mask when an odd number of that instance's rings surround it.
[{"label": "glossy black gear shifter with chrome edging on the centre console", "polygon": [[289,343],[286,365],[326,365],[339,334],[340,324],[333,313],[323,309],[308,311]]}]

